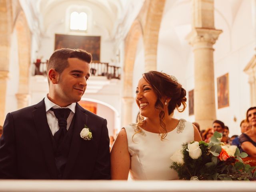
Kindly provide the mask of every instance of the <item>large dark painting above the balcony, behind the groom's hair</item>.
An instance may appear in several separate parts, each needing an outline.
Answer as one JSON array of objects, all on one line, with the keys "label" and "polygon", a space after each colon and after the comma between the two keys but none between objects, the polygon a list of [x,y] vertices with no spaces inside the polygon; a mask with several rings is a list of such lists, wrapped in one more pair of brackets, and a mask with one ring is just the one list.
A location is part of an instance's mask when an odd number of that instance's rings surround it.
[{"label": "large dark painting above the balcony, behind the groom's hair", "polygon": [[54,50],[61,48],[86,50],[92,54],[93,62],[100,62],[100,36],[55,34]]}]

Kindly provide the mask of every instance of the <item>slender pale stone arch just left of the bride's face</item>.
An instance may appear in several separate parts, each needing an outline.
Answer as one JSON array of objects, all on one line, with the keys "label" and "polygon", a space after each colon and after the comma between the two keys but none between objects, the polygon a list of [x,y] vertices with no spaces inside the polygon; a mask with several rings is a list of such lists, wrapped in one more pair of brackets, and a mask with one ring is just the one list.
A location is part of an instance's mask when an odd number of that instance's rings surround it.
[{"label": "slender pale stone arch just left of the bride's face", "polygon": [[125,39],[125,55],[124,55],[124,86],[123,86],[123,122],[126,125],[132,122],[132,103],[134,98],[132,95],[132,79],[134,61],[136,56],[137,44],[139,38],[143,35],[142,26],[139,20],[135,20]]}]

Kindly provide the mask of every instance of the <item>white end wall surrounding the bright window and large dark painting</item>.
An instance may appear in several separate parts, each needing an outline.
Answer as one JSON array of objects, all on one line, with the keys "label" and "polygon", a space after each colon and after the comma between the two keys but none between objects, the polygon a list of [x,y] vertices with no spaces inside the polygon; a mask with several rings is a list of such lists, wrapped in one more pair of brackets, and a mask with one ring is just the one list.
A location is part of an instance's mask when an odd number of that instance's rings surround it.
[{"label": "white end wall surrounding the bright window and large dark painting", "polygon": [[[38,58],[47,60],[54,52],[55,34],[69,34],[69,35],[86,35],[86,36],[101,36],[101,51],[100,61],[111,62],[111,58],[114,58],[114,42],[110,41],[110,29],[112,22],[110,17],[102,12],[100,8],[94,4],[88,5],[88,8],[92,10],[92,27],[89,32],[72,32],[67,30],[67,24],[69,19],[66,16],[66,10],[69,6],[78,5],[78,1],[74,1],[73,4],[70,1],[53,6],[51,10],[44,13],[44,26],[45,32],[42,35],[40,48],[38,50]],[[97,13],[97,14],[96,14]],[[53,20],[54,18],[54,20]]]}]

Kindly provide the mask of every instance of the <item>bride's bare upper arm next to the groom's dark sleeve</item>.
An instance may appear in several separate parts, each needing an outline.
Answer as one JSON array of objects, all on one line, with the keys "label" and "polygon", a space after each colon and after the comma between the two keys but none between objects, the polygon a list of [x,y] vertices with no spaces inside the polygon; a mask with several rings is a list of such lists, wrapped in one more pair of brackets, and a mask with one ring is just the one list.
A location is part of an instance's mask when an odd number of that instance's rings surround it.
[{"label": "bride's bare upper arm next to the groom's dark sleeve", "polygon": [[130,153],[126,131],[123,128],[118,133],[110,153],[111,178],[113,180],[127,180],[130,170]]}]

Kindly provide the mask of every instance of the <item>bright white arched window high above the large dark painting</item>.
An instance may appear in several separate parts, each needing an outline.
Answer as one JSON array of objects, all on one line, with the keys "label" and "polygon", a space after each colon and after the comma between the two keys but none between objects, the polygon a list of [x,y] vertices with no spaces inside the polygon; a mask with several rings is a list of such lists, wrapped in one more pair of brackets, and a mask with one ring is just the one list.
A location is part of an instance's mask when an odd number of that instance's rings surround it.
[{"label": "bright white arched window high above the large dark painting", "polygon": [[87,14],[85,12],[72,12],[70,14],[71,30],[87,30]]}]

